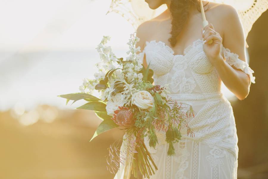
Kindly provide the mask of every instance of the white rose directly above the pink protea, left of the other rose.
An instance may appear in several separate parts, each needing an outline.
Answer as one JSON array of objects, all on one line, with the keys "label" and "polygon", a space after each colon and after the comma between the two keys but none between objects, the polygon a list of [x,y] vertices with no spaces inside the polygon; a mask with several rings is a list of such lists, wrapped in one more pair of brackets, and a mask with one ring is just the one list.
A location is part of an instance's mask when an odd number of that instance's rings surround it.
[{"label": "white rose directly above the pink protea, left of the other rose", "polygon": [[111,99],[106,104],[106,111],[108,115],[113,115],[114,111],[119,109],[119,106],[124,106],[127,103],[124,100],[124,95],[117,93],[115,96],[112,96]]}]

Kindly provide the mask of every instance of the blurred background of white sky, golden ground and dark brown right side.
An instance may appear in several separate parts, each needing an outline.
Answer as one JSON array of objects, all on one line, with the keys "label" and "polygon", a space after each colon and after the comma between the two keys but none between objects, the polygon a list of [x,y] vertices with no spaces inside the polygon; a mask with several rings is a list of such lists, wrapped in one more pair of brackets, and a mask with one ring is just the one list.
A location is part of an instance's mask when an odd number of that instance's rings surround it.
[{"label": "blurred background of white sky, golden ground and dark brown right side", "polygon": [[[126,57],[133,27],[109,13],[110,0],[0,0],[0,178],[113,178],[107,148],[112,129],[89,143],[100,124],[94,113],[57,95],[80,92],[94,78],[102,36]],[[268,178],[268,11],[247,37],[256,83],[238,100],[226,87],[239,138],[238,178]]]}]

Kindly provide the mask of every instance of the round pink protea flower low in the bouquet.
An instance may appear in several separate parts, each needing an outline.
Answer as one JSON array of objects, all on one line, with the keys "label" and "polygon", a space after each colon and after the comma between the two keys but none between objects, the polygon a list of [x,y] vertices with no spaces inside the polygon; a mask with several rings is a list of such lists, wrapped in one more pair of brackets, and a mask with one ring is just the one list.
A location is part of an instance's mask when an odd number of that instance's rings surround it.
[{"label": "round pink protea flower low in the bouquet", "polygon": [[133,119],[133,113],[128,107],[118,107],[120,110],[115,110],[113,115],[113,121],[115,124],[124,127],[130,128],[134,125],[135,119]]}]

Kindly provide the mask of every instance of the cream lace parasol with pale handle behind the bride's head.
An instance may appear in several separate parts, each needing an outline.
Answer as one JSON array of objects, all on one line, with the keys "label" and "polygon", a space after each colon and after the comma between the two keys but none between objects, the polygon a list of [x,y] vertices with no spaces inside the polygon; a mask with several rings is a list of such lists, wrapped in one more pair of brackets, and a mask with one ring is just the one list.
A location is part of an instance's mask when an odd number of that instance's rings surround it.
[{"label": "cream lace parasol with pale handle behind the bride's head", "polygon": [[[268,8],[268,0],[207,0],[210,2],[228,4],[233,6],[240,17],[243,25],[244,35],[247,38],[254,22],[261,16],[261,14]],[[202,1],[201,1],[202,4]],[[115,12],[123,16],[129,21],[134,29],[144,21],[150,20],[167,9],[166,4],[161,5],[156,10],[149,8],[144,0],[112,0],[110,9],[107,13]],[[202,13],[202,8],[201,8]],[[202,13],[203,26],[207,24],[205,15]]]}]

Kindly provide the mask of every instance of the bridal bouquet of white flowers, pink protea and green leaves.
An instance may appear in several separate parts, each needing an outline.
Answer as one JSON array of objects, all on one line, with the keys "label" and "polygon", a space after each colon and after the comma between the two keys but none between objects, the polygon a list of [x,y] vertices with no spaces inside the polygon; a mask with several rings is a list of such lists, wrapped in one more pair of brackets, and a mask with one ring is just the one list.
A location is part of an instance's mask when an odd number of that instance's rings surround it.
[{"label": "bridal bouquet of white flowers, pink protea and green leaves", "polygon": [[[167,95],[167,85],[152,84],[153,71],[149,69],[150,64],[147,68],[143,66],[143,59],[137,54],[141,50],[135,47],[139,41],[135,33],[127,43],[129,56],[126,59],[116,57],[111,47],[106,46],[108,40],[109,36],[103,36],[96,48],[101,61],[96,64],[99,72],[94,74],[95,79],[84,79],[80,93],[59,96],[67,99],[66,104],[69,100],[88,101],[77,109],[93,110],[103,120],[92,139],[115,127],[125,130],[121,138],[124,151],[120,152],[116,142],[108,148],[107,169],[110,172],[115,173],[122,163],[125,165],[124,178],[129,178],[130,173],[137,177],[138,171],[149,178],[157,166],[145,146],[144,137],[147,136],[149,146],[155,148],[158,143],[156,131],[166,132],[167,155],[174,155],[174,143],[181,139],[182,124],[187,127],[188,134],[194,136],[186,122],[194,116],[194,111],[189,105],[187,112],[183,112],[182,103],[172,101]],[[93,95],[96,91],[98,97]]]}]

